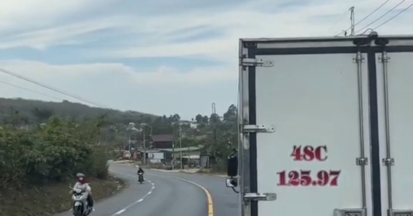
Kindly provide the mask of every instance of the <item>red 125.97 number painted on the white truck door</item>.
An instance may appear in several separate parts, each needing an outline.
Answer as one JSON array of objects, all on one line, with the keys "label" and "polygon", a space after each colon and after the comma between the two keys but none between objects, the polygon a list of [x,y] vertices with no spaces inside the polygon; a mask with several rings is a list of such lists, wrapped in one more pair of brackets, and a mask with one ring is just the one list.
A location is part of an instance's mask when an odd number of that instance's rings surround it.
[{"label": "red 125.97 number painted on the white truck door", "polygon": [[339,184],[340,170],[326,171],[321,170],[317,173],[317,177],[313,178],[310,176],[311,171],[300,170],[300,171],[280,171],[279,176],[279,186],[337,186]]}]

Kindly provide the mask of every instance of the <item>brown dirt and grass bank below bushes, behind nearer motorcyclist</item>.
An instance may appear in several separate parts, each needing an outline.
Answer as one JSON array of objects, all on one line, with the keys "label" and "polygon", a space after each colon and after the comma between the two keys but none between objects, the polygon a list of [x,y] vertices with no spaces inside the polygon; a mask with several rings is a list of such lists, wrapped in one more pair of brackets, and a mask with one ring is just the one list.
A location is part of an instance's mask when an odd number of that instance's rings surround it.
[{"label": "brown dirt and grass bank below bushes, behind nearer motorcyclist", "polygon": [[[90,182],[95,201],[110,197],[126,186],[123,180],[114,177]],[[47,216],[68,211],[72,204],[69,184],[74,181],[21,190],[0,189],[0,215]]]}]

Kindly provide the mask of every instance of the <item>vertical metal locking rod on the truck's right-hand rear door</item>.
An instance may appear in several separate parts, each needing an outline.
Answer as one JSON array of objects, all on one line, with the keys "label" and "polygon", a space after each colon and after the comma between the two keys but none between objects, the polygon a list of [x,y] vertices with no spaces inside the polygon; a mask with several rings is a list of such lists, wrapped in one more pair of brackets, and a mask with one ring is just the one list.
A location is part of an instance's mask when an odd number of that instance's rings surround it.
[{"label": "vertical metal locking rod on the truck's right-hand rear door", "polygon": [[392,159],[390,149],[390,121],[389,121],[389,91],[388,91],[388,54],[385,51],[385,45],[383,45],[383,52],[381,53],[381,62],[383,63],[383,85],[384,85],[384,117],[385,117],[385,155],[384,163],[387,167],[387,180],[388,180],[388,208],[389,211],[393,209],[392,201],[392,165],[394,160]]}]

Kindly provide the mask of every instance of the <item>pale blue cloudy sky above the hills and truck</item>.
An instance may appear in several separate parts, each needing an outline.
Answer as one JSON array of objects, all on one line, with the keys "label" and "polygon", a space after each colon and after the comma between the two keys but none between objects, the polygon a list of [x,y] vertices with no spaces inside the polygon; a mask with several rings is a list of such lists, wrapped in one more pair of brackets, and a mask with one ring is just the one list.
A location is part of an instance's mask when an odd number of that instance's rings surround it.
[{"label": "pale blue cloudy sky above the hills and truck", "polygon": [[[222,114],[237,103],[239,38],[333,36],[348,28],[348,14],[337,19],[350,6],[360,19],[383,2],[5,0],[0,67],[110,108],[191,119],[209,115],[215,102]],[[378,31],[412,33],[412,16],[407,11]],[[78,101],[3,73],[0,81]],[[0,97],[56,101],[1,83]]]}]

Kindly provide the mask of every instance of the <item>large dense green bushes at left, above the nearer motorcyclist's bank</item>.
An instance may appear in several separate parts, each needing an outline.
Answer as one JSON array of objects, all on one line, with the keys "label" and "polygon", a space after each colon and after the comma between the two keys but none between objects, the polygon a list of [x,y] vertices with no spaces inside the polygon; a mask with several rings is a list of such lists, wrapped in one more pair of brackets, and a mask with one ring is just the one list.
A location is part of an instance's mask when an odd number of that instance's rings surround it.
[{"label": "large dense green bushes at left, above the nearer motorcyclist's bank", "polygon": [[78,172],[106,178],[108,157],[105,149],[94,145],[96,127],[56,117],[35,130],[1,127],[0,184],[61,182]]}]

